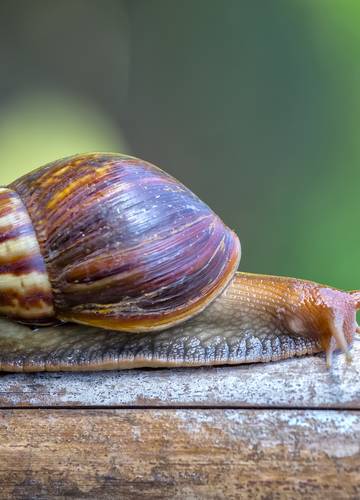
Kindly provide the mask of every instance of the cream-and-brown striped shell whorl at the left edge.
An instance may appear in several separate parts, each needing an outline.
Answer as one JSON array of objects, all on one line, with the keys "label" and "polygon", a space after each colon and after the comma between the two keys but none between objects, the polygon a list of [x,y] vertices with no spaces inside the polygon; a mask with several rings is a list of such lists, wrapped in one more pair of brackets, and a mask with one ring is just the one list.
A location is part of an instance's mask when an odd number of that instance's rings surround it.
[{"label": "cream-and-brown striped shell whorl at the left edge", "polygon": [[33,324],[54,318],[32,222],[17,193],[7,188],[0,188],[0,314]]}]

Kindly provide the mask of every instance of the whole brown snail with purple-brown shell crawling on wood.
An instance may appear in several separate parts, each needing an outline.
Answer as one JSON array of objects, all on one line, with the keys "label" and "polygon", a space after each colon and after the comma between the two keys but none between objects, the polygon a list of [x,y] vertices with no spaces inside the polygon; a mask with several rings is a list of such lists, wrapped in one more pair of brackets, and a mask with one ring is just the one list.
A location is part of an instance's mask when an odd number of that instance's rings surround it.
[{"label": "whole brown snail with purple-brown shell crawling on wood", "polygon": [[0,369],[350,358],[360,291],[237,272],[240,254],[205,203],[146,161],[45,165],[0,188]]}]

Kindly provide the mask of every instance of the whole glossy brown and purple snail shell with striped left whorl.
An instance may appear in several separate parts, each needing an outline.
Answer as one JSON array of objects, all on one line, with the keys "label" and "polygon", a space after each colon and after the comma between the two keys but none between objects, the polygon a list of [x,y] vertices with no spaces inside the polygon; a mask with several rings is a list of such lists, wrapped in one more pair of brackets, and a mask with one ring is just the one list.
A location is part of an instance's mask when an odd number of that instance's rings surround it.
[{"label": "whole glossy brown and purple snail shell with striped left whorl", "polygon": [[228,285],[237,236],[159,168],[119,154],[46,165],[0,190],[0,313],[160,330]]}]

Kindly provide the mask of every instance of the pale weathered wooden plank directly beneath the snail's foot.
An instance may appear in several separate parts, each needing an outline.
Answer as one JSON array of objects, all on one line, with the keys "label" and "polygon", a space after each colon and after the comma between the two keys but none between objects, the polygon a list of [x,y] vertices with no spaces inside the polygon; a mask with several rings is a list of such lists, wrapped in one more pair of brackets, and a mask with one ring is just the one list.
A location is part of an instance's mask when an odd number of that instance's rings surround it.
[{"label": "pale weathered wooden plank directly beneath the snail's foot", "polygon": [[0,406],[360,409],[360,340],[353,362],[324,356],[220,368],[0,376]]}]

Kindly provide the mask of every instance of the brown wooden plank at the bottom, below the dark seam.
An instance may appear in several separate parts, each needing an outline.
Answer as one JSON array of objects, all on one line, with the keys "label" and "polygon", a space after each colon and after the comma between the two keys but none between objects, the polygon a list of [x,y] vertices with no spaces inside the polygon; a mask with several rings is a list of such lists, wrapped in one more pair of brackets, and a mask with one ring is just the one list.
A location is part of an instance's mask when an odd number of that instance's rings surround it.
[{"label": "brown wooden plank at the bottom, below the dark seam", "polygon": [[359,498],[360,415],[2,410],[2,498]]}]

